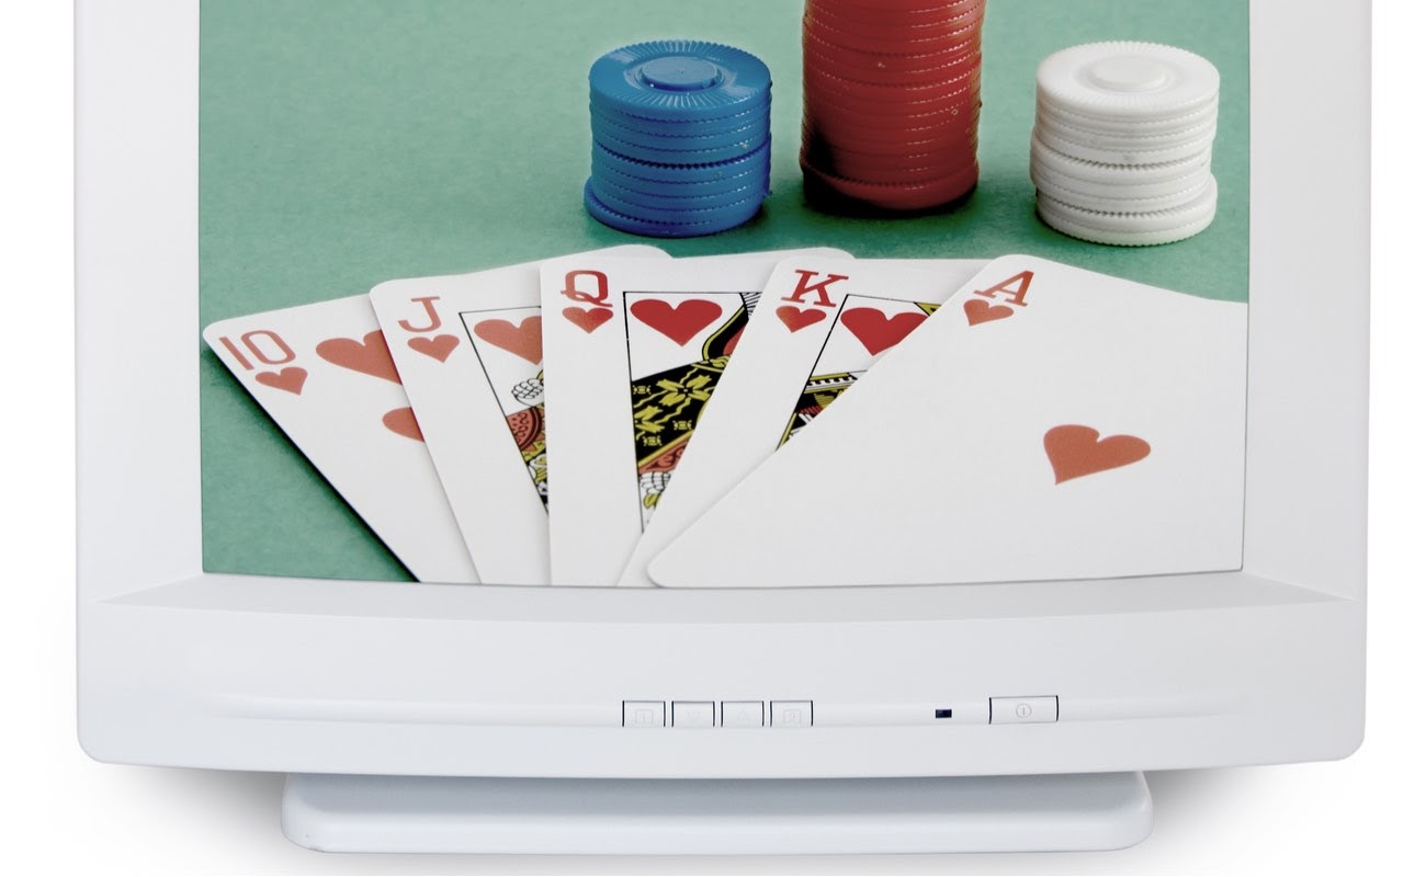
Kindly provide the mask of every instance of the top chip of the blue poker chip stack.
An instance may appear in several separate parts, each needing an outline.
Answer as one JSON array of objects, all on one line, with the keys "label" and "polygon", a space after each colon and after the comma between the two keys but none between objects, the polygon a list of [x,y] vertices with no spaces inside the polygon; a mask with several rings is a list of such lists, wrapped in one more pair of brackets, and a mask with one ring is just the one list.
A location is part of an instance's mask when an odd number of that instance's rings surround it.
[{"label": "top chip of the blue poker chip stack", "polygon": [[773,76],[752,54],[696,40],[616,48],[589,68],[590,104],[649,121],[706,121],[761,108]]}]

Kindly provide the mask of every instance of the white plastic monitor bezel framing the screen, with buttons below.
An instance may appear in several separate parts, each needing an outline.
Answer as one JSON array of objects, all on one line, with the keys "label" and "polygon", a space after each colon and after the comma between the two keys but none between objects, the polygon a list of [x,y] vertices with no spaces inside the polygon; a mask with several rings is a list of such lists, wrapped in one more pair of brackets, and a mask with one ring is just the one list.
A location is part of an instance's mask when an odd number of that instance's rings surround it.
[{"label": "white plastic monitor bezel framing the screen, with buttons below", "polygon": [[[1369,9],[1253,0],[1251,27],[1243,570],[810,599],[204,573],[198,1],[81,0],[87,752],[492,776],[1061,773],[1348,754],[1365,655]],[[1308,184],[1322,168],[1332,185]],[[881,720],[941,700],[974,717],[988,696],[1031,693],[1060,694],[1064,720]],[[625,699],[744,697],[811,699],[841,719],[742,737],[617,726]]]}]

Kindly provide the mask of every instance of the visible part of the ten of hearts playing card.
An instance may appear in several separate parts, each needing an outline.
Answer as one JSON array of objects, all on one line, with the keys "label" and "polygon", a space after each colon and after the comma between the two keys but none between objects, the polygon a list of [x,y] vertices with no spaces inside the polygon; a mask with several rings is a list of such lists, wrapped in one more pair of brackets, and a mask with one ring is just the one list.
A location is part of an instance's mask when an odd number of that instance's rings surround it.
[{"label": "visible part of the ten of hearts playing card", "polygon": [[479,580],[365,295],[224,319],[202,338],[411,575]]}]

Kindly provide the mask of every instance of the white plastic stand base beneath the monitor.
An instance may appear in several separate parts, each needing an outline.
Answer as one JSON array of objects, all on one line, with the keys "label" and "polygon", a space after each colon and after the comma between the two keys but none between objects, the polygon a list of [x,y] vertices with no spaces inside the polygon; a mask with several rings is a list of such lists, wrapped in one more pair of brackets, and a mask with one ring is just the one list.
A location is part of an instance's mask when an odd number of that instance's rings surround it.
[{"label": "white plastic stand base beneath the monitor", "polygon": [[292,774],[282,831],[334,853],[816,854],[1114,850],[1141,773],[866,780]]}]

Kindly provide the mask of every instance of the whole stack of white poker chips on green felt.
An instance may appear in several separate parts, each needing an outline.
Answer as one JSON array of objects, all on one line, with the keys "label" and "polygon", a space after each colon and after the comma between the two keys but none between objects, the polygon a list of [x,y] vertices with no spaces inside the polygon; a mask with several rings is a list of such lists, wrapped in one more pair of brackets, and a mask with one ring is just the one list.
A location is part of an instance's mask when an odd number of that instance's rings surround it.
[{"label": "whole stack of white poker chips on green felt", "polygon": [[1040,218],[1095,244],[1191,238],[1218,212],[1218,68],[1155,43],[1058,51],[1035,76],[1030,177]]}]

